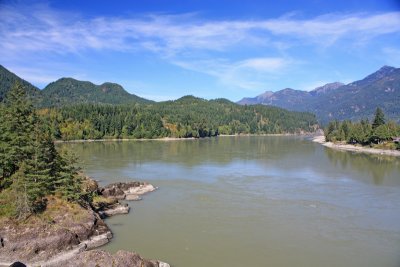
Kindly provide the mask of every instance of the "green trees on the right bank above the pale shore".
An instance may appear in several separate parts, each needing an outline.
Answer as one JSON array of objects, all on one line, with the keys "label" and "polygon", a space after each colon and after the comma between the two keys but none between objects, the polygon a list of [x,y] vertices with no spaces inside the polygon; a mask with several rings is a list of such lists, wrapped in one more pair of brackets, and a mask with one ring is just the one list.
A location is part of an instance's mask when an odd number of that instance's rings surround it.
[{"label": "green trees on the right bank above the pale shore", "polygon": [[393,143],[394,137],[400,136],[400,125],[393,121],[386,122],[385,114],[380,108],[375,111],[372,123],[368,120],[360,122],[332,121],[325,129],[325,139],[329,142],[346,142],[370,146],[382,146],[400,149],[399,143]]}]

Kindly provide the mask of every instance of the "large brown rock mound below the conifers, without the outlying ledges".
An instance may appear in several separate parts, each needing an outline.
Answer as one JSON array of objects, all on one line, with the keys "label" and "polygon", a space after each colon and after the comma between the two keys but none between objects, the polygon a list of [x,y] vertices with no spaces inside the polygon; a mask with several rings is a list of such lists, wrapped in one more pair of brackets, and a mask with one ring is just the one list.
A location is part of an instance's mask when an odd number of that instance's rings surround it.
[{"label": "large brown rock mound below the conifers, without the outlying ledges", "polygon": [[2,223],[0,264],[43,263],[68,251],[103,245],[112,238],[96,212],[77,204],[52,197],[40,216],[43,218],[28,218],[24,223]]}]

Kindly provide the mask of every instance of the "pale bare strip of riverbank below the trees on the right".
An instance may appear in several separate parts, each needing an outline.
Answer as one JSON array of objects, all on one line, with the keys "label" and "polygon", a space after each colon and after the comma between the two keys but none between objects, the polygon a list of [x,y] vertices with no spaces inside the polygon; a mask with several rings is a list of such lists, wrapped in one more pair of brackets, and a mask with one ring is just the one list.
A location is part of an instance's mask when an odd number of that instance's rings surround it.
[{"label": "pale bare strip of riverbank below the trees on the right", "polygon": [[333,148],[333,149],[337,149],[337,150],[400,157],[400,151],[398,151],[398,150],[386,150],[386,149],[363,147],[363,146],[360,146],[360,145],[350,145],[350,144],[335,144],[335,143],[332,143],[332,142],[326,142],[325,141],[325,136],[323,136],[323,135],[314,137],[312,139],[312,141],[316,142],[316,143],[319,143],[319,144],[321,144],[323,146],[326,146],[326,147],[329,147],[329,148]]}]

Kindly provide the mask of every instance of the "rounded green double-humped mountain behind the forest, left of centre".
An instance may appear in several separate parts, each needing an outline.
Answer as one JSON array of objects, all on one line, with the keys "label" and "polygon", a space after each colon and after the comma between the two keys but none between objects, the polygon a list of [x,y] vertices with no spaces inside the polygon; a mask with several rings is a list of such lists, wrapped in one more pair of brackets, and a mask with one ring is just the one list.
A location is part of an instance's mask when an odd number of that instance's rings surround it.
[{"label": "rounded green double-humped mountain behind the forest, left of centre", "polygon": [[130,94],[116,83],[95,85],[72,78],[61,78],[42,90],[41,106],[65,106],[82,103],[128,104],[151,103],[152,101]]}]

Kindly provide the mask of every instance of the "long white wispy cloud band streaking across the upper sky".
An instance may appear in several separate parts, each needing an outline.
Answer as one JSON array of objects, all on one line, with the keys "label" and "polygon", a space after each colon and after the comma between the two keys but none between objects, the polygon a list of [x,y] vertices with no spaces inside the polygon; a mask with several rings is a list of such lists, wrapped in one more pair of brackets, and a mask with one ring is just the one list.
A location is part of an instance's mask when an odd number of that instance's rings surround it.
[{"label": "long white wispy cloud band streaking across the upper sky", "polygon": [[271,45],[271,36],[333,43],[344,36],[374,38],[394,32],[400,32],[400,12],[328,14],[308,20],[282,17],[202,21],[195,15],[88,19],[45,7],[3,6],[0,10],[3,51],[74,53],[84,49],[141,48],[182,53],[194,49],[220,51],[238,44]]}]

